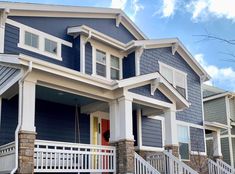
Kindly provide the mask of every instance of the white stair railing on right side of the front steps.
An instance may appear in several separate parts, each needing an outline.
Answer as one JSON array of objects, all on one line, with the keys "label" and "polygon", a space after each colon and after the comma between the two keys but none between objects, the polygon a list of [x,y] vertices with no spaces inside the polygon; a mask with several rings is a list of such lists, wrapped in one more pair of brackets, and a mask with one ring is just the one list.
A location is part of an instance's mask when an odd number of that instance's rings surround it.
[{"label": "white stair railing on right side of the front steps", "polygon": [[167,174],[198,174],[191,167],[180,161],[170,152],[163,151],[150,155],[147,161],[161,173]]}]

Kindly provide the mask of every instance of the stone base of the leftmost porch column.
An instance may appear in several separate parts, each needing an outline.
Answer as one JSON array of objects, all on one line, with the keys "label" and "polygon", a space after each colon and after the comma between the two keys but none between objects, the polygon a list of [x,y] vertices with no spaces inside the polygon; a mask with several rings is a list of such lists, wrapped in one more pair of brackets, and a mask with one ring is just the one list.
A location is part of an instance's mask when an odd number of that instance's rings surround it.
[{"label": "stone base of the leftmost porch column", "polygon": [[35,132],[19,132],[18,174],[34,173]]}]

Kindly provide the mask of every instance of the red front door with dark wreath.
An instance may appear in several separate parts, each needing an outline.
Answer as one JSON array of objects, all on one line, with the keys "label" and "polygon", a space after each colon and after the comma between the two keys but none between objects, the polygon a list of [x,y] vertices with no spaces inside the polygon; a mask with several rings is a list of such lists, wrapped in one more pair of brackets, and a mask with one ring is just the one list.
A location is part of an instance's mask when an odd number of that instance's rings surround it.
[{"label": "red front door with dark wreath", "polygon": [[109,120],[101,119],[101,145],[108,146],[110,137]]}]

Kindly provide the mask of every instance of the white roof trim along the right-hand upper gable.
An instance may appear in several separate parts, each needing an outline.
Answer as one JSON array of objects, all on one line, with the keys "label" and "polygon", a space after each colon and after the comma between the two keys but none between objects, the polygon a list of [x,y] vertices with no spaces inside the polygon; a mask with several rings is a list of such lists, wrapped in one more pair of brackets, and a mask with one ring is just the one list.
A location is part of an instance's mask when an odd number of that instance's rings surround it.
[{"label": "white roof trim along the right-hand upper gable", "polygon": [[150,39],[150,40],[139,40],[135,41],[135,46],[144,46],[148,48],[159,48],[169,47],[173,44],[179,44],[177,52],[185,59],[189,66],[200,76],[203,77],[203,81],[210,79],[209,74],[202,68],[202,66],[194,59],[191,53],[186,49],[182,42],[178,38],[167,38],[167,39]]}]

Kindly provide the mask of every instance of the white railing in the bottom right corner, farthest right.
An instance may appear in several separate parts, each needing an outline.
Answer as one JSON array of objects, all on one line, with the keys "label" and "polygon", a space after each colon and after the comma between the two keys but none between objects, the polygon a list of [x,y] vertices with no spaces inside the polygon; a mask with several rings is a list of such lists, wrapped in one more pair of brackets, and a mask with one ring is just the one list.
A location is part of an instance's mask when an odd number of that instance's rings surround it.
[{"label": "white railing in the bottom right corner, farthest right", "polygon": [[208,172],[209,174],[235,174],[235,169],[220,159],[216,162],[208,159]]}]

